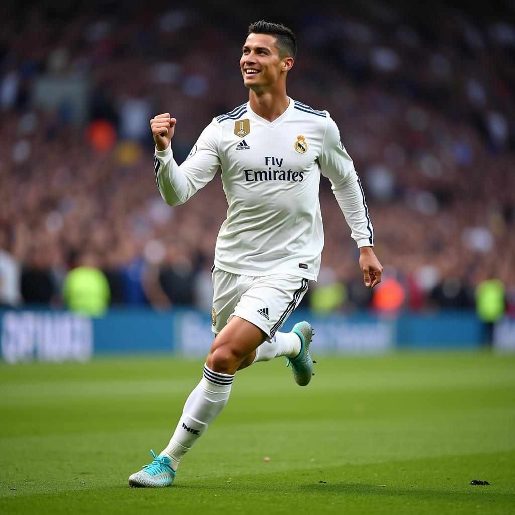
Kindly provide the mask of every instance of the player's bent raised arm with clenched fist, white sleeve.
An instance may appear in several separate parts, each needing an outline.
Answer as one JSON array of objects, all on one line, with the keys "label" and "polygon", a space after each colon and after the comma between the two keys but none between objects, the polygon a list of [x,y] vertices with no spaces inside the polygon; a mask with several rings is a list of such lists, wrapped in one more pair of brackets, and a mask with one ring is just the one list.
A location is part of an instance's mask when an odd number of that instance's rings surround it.
[{"label": "player's bent raised arm with clenched fist, white sleeve", "polygon": [[186,202],[213,179],[220,165],[218,141],[221,129],[216,119],[202,131],[190,155],[180,166],[174,160],[170,145],[176,123],[176,118],[171,118],[169,113],[150,120],[152,136],[156,142],[156,180],[161,196],[168,205]]}]

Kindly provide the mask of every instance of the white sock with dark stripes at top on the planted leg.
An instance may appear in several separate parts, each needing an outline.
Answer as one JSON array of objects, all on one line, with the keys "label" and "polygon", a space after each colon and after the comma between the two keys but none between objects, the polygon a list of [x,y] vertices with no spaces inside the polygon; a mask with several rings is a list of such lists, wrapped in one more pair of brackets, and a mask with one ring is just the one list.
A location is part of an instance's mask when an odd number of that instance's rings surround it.
[{"label": "white sock with dark stripes at top on the planted leg", "polygon": [[184,404],[174,436],[160,454],[166,454],[171,459],[171,468],[174,470],[177,470],[184,454],[224,409],[231,393],[233,378],[234,374],[214,372],[204,365],[203,377]]}]

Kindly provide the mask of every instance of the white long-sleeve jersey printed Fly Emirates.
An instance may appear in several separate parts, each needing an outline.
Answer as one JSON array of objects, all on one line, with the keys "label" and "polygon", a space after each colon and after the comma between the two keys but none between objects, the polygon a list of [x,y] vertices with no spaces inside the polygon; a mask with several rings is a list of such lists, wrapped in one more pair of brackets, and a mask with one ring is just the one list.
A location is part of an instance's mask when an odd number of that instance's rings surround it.
[{"label": "white long-sleeve jersey printed Fly Emirates", "polygon": [[249,102],[213,118],[179,166],[168,146],[154,168],[169,205],[186,202],[221,167],[229,209],[218,233],[215,265],[249,276],[288,273],[316,280],[323,247],[320,174],[358,247],[373,245],[363,188],[327,111],[289,99],[273,122]]}]

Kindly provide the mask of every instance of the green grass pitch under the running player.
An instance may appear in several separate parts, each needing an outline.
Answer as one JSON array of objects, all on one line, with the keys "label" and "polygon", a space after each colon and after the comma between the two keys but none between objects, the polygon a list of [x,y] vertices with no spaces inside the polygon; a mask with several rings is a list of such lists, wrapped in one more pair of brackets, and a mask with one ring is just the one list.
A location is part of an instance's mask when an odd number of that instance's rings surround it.
[{"label": "green grass pitch under the running player", "polygon": [[238,373],[163,489],[127,477],[168,442],[202,362],[2,364],[0,513],[515,513],[515,356],[317,361],[304,388],[282,359]]}]

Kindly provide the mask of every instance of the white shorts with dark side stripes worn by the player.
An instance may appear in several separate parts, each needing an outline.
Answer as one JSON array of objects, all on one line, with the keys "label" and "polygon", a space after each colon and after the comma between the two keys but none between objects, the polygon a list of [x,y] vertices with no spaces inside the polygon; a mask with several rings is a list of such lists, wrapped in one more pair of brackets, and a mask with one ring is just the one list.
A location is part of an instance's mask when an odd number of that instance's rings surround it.
[{"label": "white shorts with dark side stripes worn by the player", "polygon": [[304,297],[309,283],[303,277],[275,273],[242,276],[213,267],[212,331],[218,334],[231,317],[248,320],[267,334],[278,331]]}]

